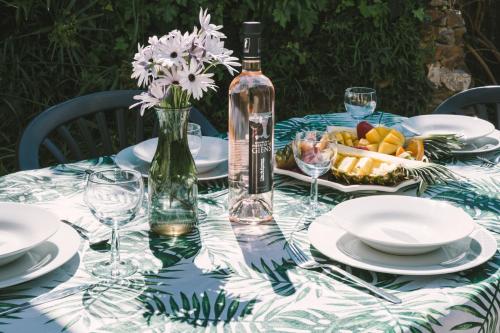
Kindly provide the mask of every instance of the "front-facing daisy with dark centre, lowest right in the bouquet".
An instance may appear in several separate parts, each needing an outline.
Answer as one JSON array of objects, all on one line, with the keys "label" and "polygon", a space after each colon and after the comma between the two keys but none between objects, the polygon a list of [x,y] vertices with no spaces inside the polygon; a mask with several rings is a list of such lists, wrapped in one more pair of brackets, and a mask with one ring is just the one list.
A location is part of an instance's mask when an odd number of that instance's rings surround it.
[{"label": "front-facing daisy with dark centre, lowest right in the bouquet", "polygon": [[214,84],[214,80],[211,79],[214,74],[206,74],[202,73],[202,71],[203,67],[200,66],[196,60],[191,59],[189,68],[184,68],[184,70],[179,73],[181,87],[188,91],[194,99],[200,99],[208,88],[213,90],[217,88]]}]

